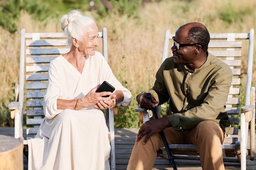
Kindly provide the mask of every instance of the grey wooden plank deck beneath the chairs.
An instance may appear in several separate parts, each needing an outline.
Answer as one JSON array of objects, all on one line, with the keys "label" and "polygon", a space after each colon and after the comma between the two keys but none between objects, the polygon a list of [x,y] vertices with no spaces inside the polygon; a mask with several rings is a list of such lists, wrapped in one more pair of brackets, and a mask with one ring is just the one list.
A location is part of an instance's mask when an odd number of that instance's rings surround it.
[{"label": "grey wooden plank deck beneath the chairs", "polygon": [[[115,129],[117,170],[126,170],[137,131],[138,129]],[[0,135],[13,137],[14,128],[0,128]],[[27,158],[24,156],[23,159],[24,170],[27,170]],[[236,158],[231,158],[229,161],[231,162],[224,162],[226,170],[240,170],[240,163],[237,162]],[[183,157],[175,157],[175,163],[178,170],[202,170],[199,160],[187,160]],[[153,170],[173,170],[173,168],[169,161],[158,157]],[[247,170],[256,170],[256,161],[250,161],[249,157],[247,157]]]}]

